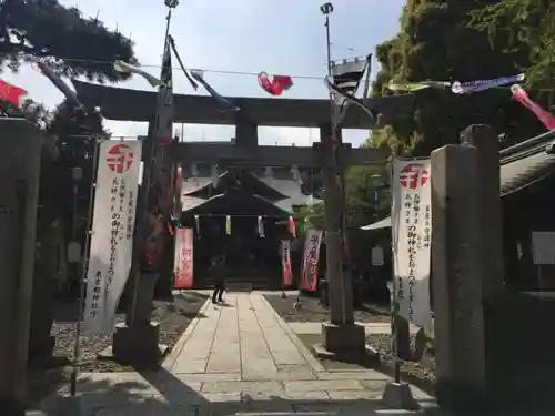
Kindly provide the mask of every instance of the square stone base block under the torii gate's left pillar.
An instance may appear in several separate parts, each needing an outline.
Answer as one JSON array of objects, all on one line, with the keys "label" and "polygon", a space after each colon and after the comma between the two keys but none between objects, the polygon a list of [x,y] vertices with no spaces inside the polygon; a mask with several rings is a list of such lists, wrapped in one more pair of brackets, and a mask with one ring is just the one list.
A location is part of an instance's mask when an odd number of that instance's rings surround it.
[{"label": "square stone base block under the torii gate's left pillar", "polygon": [[168,349],[158,344],[159,334],[157,323],[141,326],[118,324],[112,338],[111,355],[118,363],[123,364],[154,363]]}]

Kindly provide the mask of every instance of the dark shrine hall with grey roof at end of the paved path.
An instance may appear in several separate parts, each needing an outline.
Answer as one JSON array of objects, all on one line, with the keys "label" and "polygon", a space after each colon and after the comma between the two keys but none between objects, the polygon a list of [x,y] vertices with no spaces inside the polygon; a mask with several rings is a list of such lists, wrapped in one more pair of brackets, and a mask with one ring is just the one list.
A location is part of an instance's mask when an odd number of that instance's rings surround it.
[{"label": "dark shrine hall with grey roof at end of the paved path", "polygon": [[194,174],[184,169],[181,223],[194,230],[200,285],[210,283],[211,258],[225,254],[229,280],[280,286],[280,246],[289,237],[287,217],[293,206],[307,200],[287,173],[278,170],[266,177],[254,169],[223,169],[218,174],[208,165],[195,165]]}]

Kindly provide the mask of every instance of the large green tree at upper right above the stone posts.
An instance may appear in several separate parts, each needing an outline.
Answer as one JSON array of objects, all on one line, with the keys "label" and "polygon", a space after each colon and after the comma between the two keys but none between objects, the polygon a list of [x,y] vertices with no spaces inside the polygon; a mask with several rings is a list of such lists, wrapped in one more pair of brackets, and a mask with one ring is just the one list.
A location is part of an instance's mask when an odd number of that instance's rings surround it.
[{"label": "large green tree at upper right above the stone posts", "polygon": [[[381,71],[373,85],[374,95],[391,94],[386,88],[390,81],[464,82],[515,74],[528,68],[527,72],[534,74],[539,68],[534,62],[543,65],[547,58],[536,57],[537,43],[525,43],[533,39],[553,40],[522,29],[528,37],[515,35],[522,40],[509,48],[511,37],[495,35],[505,33],[503,23],[514,11],[511,3],[534,2],[543,7],[539,13],[553,9],[548,1],[539,0],[505,0],[493,6],[491,0],[407,0],[400,33],[376,48]],[[532,28],[534,19],[526,19]],[[511,30],[517,31],[521,23],[514,23]],[[553,19],[551,23],[555,24]],[[549,26],[547,21],[545,26]],[[554,59],[553,54],[549,59]],[[543,85],[553,87],[553,79],[544,81]],[[537,93],[531,95],[546,104]],[[508,88],[463,97],[430,89],[417,93],[414,116],[386,120],[373,132],[373,140],[387,144],[397,155],[424,155],[443,144],[458,142],[460,132],[475,123],[491,124],[498,133],[505,133],[503,145],[545,131],[533,114],[512,100]]]}]

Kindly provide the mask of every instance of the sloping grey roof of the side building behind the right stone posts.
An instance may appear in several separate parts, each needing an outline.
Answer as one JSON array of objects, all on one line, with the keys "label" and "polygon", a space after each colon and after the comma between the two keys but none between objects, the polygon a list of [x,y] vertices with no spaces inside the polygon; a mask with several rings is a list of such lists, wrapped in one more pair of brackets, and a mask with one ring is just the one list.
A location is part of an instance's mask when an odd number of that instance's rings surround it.
[{"label": "sloping grey roof of the side building behind the right stone posts", "polygon": [[[551,131],[500,152],[501,196],[521,191],[555,172],[555,131]],[[391,217],[361,230],[382,230],[391,227]]]}]

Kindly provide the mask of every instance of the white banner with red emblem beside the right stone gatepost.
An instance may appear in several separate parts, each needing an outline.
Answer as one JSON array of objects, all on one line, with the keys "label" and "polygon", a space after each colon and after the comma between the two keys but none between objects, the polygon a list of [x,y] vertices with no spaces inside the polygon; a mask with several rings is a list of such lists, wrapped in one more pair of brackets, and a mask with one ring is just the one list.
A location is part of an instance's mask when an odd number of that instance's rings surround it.
[{"label": "white banner with red emblem beside the right stone gatepost", "polygon": [[430,160],[395,160],[392,177],[392,244],[398,313],[432,327],[430,271],[432,191]]}]

